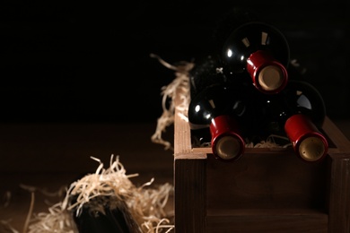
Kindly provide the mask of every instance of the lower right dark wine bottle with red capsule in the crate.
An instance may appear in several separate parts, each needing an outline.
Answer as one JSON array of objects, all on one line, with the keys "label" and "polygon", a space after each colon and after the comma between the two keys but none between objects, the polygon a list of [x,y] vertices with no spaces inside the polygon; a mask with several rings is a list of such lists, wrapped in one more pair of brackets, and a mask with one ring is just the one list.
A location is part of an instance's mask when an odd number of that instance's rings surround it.
[{"label": "lower right dark wine bottle with red capsule in the crate", "polygon": [[261,128],[264,136],[287,136],[302,160],[325,158],[328,141],[319,129],[326,117],[326,108],[319,91],[311,83],[289,80],[284,91],[276,95],[260,94],[255,99],[265,109],[263,117],[266,124]]}]

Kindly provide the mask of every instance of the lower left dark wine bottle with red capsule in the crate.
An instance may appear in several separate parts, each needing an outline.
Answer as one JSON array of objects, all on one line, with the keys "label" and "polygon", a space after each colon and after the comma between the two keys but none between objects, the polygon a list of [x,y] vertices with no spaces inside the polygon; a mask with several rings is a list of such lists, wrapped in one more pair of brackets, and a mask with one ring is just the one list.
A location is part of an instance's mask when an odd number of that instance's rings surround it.
[{"label": "lower left dark wine bottle with red capsule in the crate", "polygon": [[200,91],[189,103],[191,131],[208,128],[213,154],[219,160],[241,158],[245,138],[258,125],[258,108],[249,97],[249,87],[252,86],[216,83]]}]

